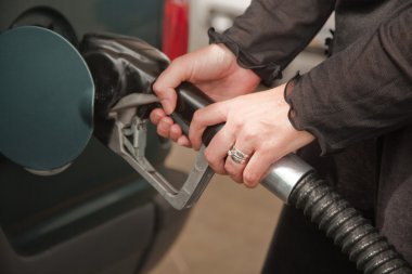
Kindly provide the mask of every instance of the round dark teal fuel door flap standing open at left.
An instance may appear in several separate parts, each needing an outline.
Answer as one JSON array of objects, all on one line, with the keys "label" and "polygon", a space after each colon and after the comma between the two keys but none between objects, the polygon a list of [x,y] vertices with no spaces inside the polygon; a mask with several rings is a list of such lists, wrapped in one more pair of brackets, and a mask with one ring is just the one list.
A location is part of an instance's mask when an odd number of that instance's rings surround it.
[{"label": "round dark teal fuel door flap standing open at left", "polygon": [[17,27],[0,35],[0,153],[34,170],[67,166],[93,130],[93,79],[60,35]]}]

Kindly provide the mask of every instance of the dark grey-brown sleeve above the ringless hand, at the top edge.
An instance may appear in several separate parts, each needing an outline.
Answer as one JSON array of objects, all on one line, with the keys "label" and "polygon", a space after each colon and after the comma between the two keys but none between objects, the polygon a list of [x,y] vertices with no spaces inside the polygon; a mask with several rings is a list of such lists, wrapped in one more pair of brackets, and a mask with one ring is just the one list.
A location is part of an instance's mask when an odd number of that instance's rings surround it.
[{"label": "dark grey-brown sleeve above the ringless hand, at the top edge", "polygon": [[333,0],[254,0],[233,27],[223,34],[209,30],[210,41],[227,44],[243,67],[271,86],[324,25],[334,5]]}]

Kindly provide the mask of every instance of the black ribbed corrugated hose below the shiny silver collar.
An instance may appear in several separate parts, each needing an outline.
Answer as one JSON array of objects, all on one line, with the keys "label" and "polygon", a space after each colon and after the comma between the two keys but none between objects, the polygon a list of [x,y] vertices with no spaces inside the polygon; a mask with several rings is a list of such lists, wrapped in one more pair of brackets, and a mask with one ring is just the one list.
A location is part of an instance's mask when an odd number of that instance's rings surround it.
[{"label": "black ribbed corrugated hose below the shiny silver collar", "polygon": [[302,209],[363,273],[412,273],[408,262],[371,222],[314,172],[296,185],[288,204]]}]

